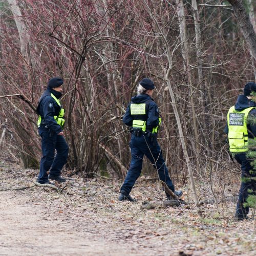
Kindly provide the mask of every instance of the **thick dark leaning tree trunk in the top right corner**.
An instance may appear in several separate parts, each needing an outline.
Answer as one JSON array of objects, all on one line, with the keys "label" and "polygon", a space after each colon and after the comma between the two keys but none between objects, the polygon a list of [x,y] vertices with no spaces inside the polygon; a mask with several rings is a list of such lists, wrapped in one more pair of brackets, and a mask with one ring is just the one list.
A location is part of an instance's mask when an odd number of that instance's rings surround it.
[{"label": "thick dark leaning tree trunk in the top right corner", "polygon": [[256,61],[256,33],[250,21],[250,17],[245,10],[242,0],[228,0],[232,5],[233,11],[237,16],[238,22],[241,26],[241,31],[248,44],[251,55]]}]

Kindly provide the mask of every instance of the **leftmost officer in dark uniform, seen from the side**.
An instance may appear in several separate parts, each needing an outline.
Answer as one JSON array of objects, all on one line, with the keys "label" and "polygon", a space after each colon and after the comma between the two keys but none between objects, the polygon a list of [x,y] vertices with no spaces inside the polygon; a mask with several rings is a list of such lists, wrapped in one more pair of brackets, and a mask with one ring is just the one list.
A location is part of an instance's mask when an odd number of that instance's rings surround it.
[{"label": "leftmost officer in dark uniform, seen from the side", "polygon": [[[63,165],[67,162],[69,146],[63,137],[64,109],[59,102],[63,80],[53,77],[49,80],[47,90],[42,94],[37,106],[39,115],[37,126],[41,136],[42,158],[37,182],[52,184],[48,179],[65,182],[60,176]],[[57,151],[56,156],[55,150]],[[50,169],[49,176],[47,174]]]}]

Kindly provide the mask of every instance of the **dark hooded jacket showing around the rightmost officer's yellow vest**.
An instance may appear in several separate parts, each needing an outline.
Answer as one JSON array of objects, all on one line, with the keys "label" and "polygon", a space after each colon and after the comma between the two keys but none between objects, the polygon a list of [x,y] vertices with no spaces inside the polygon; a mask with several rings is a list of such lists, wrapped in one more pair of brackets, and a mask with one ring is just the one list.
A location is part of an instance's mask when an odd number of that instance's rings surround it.
[{"label": "dark hooded jacket showing around the rightmost officer's yellow vest", "polygon": [[[256,103],[254,101],[249,100],[246,96],[243,94],[238,96],[237,102],[234,105],[234,109],[236,111],[242,111],[247,108],[251,108],[252,106],[256,107]],[[252,109],[249,112],[248,118],[250,119],[256,119],[256,109]],[[256,123],[247,123],[247,130],[248,130],[248,137],[254,138],[256,137]],[[226,124],[224,132],[228,134],[228,126]]]}]

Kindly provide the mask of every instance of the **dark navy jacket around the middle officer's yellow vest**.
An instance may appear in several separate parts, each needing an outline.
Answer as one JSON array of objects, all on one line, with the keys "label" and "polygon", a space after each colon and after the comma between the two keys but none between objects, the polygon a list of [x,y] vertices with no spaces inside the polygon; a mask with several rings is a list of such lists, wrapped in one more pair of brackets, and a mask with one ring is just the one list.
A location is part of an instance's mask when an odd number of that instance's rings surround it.
[{"label": "dark navy jacket around the middle officer's yellow vest", "polygon": [[[131,115],[131,103],[146,103],[146,115]],[[158,106],[154,100],[147,94],[140,94],[132,97],[132,101],[127,106],[126,112],[123,116],[123,122],[128,126],[133,126],[133,120],[145,120],[146,131],[152,131],[154,127],[159,124]]]}]

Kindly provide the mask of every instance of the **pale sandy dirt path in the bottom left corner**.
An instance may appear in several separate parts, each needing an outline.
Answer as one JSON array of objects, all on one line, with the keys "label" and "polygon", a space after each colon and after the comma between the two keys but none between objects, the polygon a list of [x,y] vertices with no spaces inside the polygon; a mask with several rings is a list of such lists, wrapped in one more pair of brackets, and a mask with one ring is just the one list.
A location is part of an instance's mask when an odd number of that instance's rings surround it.
[{"label": "pale sandy dirt path in the bottom left corner", "polygon": [[[33,203],[26,195],[1,194],[0,255],[120,255],[127,250],[97,241],[91,232],[77,230],[69,218],[54,217],[47,205]],[[81,223],[82,225],[82,223]]]}]

